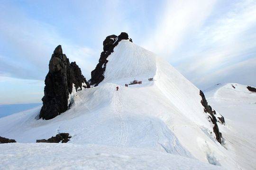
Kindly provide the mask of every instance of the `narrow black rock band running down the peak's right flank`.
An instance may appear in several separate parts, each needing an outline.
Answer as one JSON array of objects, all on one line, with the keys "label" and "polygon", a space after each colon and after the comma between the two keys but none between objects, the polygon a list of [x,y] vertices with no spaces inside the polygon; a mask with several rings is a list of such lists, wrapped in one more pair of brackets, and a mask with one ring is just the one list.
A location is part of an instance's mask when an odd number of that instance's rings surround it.
[{"label": "narrow black rock band running down the peak's right flank", "polygon": [[203,94],[203,92],[200,90],[200,96],[202,98],[201,100],[201,104],[202,106],[204,107],[204,112],[205,113],[208,113],[208,118],[210,119],[211,123],[214,125],[213,126],[213,132],[216,136],[216,140],[221,144],[221,138],[222,138],[222,134],[219,132],[219,127],[217,125],[217,122],[221,123],[221,124],[224,124],[225,123],[225,120],[224,120],[224,117],[221,116],[221,117],[218,117],[219,121],[216,119],[216,111],[213,110],[210,105],[208,105],[208,102]]}]

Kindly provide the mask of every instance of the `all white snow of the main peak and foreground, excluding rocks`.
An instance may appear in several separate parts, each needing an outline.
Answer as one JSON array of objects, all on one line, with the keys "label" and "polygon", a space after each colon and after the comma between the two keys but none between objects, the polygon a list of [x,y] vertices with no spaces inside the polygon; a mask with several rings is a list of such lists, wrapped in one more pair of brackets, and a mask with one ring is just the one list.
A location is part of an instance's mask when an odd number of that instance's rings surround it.
[{"label": "all white snow of the main peak and foreground, excluding rocks", "polygon": [[[108,60],[105,79],[78,91],[65,113],[38,120],[37,107],[0,118],[0,136],[18,142],[0,144],[0,169],[252,168],[234,145],[216,141],[199,89],[170,64],[128,40],[120,41]],[[142,84],[125,87],[134,79]],[[235,131],[229,122],[218,125],[226,143],[240,139],[238,132],[226,133]],[[35,143],[57,133],[72,138]]]}]

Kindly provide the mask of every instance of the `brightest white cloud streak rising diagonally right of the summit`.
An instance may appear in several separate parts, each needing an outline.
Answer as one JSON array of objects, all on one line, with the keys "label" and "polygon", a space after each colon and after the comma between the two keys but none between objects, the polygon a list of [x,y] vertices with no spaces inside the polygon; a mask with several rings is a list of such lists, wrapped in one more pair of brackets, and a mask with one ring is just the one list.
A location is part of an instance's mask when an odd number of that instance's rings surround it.
[{"label": "brightest white cloud streak rising diagonally right of the summit", "polygon": [[201,27],[214,4],[215,0],[166,1],[153,36],[149,36],[144,46],[165,58],[170,58],[184,39]]}]

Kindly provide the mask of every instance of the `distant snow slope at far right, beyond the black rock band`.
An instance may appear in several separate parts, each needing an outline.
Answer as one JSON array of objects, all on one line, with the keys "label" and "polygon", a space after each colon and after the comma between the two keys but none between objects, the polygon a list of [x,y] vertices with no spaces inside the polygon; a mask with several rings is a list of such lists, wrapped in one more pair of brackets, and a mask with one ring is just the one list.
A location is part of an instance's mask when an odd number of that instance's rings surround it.
[{"label": "distant snow slope at far right, beyond the black rock band", "polygon": [[206,89],[212,107],[225,117],[222,128],[225,147],[243,169],[256,169],[256,92],[238,83],[218,84]]}]

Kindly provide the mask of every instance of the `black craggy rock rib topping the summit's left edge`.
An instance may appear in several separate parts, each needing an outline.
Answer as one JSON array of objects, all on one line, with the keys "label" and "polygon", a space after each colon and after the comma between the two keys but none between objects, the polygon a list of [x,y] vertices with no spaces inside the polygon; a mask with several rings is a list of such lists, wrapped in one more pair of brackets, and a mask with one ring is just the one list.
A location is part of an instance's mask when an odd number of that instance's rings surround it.
[{"label": "black craggy rock rib topping the summit's left edge", "polygon": [[[98,84],[103,81],[106,64],[108,63],[108,56],[114,52],[115,46],[117,46],[121,40],[127,39],[129,39],[128,34],[124,32],[122,32],[119,36],[111,35],[106,37],[106,39],[103,41],[103,52],[101,52],[99,63],[91,72],[91,80],[89,81],[90,85],[98,86]],[[132,39],[129,39],[129,41],[132,42]]]}]

